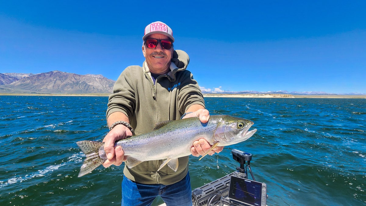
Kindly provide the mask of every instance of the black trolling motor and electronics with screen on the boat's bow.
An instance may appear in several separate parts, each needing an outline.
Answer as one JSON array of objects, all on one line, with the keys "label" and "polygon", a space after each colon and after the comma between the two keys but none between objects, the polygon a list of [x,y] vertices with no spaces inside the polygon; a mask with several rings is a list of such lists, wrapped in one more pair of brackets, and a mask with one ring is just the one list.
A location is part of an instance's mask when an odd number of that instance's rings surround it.
[{"label": "black trolling motor and electronics with screen on the boat's bow", "polygon": [[[237,149],[232,157],[240,163],[237,171],[212,181],[192,191],[194,206],[265,206],[267,185],[255,181],[250,168],[252,154]],[[247,162],[247,164],[246,164]],[[247,169],[253,180],[248,179]]]}]

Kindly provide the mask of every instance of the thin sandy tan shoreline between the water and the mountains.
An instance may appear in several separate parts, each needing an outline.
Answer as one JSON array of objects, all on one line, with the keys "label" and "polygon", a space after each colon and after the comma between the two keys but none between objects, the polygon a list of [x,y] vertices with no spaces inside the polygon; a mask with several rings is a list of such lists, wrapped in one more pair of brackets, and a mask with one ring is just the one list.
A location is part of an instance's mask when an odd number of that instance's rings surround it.
[{"label": "thin sandy tan shoreline between the water and the mountains", "polygon": [[[83,97],[108,97],[109,94],[26,94],[26,93],[0,93],[0,96],[83,96]],[[225,98],[354,98],[365,99],[366,95],[292,95],[292,94],[208,94],[203,93],[203,97],[225,97]]]}]

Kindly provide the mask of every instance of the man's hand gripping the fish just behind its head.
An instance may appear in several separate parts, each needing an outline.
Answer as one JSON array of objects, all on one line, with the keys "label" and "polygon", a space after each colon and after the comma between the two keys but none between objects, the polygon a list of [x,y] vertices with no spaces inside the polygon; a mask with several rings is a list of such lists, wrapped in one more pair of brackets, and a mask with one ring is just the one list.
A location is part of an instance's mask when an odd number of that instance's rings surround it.
[{"label": "man's hand gripping the fish just behind its head", "polygon": [[[187,114],[183,117],[183,119],[186,119],[188,117],[198,117],[202,123],[206,123],[210,118],[210,112],[207,109],[198,109],[193,113]],[[200,155],[203,156],[210,148],[211,145],[205,139],[199,139],[198,141],[193,142],[193,146],[191,147],[191,153],[195,157],[199,157]],[[223,149],[224,147],[215,147],[208,154],[212,156],[215,153],[223,151]]]}]

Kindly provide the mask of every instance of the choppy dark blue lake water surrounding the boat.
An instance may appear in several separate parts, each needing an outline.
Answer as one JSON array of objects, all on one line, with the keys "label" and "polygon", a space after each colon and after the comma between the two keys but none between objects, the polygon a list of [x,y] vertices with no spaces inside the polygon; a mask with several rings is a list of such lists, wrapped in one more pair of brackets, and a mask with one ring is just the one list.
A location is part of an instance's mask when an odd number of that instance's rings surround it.
[{"label": "choppy dark blue lake water surrounding the boat", "polygon": [[[107,134],[107,101],[0,96],[0,205],[120,205],[123,166],[77,177],[84,156],[75,142]],[[191,157],[192,189],[235,171],[235,148],[253,154],[268,205],[366,204],[366,99],[205,101],[211,115],[250,119],[258,131],[218,155]]]}]

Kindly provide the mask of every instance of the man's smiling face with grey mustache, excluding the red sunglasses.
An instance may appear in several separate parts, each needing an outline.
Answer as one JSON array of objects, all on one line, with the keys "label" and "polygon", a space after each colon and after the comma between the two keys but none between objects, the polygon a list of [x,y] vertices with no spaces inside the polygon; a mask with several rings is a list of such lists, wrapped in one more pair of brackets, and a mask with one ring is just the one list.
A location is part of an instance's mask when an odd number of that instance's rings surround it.
[{"label": "man's smiling face with grey mustache, excluding the red sunglasses", "polygon": [[[169,40],[169,38],[163,34],[152,34],[146,39]],[[144,49],[144,47],[146,49]],[[153,72],[154,74],[165,74],[168,71],[173,56],[173,47],[170,49],[163,49],[161,48],[161,45],[158,44],[156,48],[150,49],[143,45],[142,53],[146,59],[150,72]]]}]

